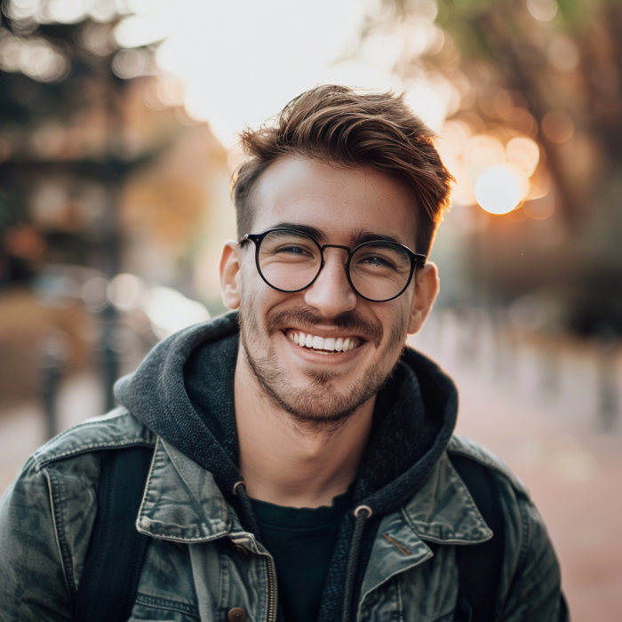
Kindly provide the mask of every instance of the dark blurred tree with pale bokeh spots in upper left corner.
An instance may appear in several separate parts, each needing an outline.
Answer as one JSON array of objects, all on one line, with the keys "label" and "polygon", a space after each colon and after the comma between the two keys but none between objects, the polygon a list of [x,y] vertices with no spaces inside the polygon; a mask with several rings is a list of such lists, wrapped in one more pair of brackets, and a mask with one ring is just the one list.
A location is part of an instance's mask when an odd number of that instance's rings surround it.
[{"label": "dark blurred tree with pale bokeh spots in upper left corner", "polygon": [[0,0],[0,246],[12,282],[41,263],[116,273],[119,187],[149,153],[124,127],[124,95],[153,72],[119,50],[115,3]]}]

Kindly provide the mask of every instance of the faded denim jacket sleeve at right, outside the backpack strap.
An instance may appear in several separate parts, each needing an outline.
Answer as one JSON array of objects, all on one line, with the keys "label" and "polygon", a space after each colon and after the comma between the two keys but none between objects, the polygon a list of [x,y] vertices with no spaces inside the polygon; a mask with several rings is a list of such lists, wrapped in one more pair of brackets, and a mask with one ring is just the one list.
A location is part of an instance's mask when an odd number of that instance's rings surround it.
[{"label": "faded denim jacket sleeve at right, outside the backpack strap", "polygon": [[[501,579],[506,589],[497,619],[499,622],[569,622],[560,567],[546,526],[530,499],[521,492],[513,492],[514,512],[508,512],[506,507],[506,519],[508,514],[514,514],[508,523],[516,529],[506,530],[505,576]],[[508,554],[507,539],[514,539],[514,554]]]}]

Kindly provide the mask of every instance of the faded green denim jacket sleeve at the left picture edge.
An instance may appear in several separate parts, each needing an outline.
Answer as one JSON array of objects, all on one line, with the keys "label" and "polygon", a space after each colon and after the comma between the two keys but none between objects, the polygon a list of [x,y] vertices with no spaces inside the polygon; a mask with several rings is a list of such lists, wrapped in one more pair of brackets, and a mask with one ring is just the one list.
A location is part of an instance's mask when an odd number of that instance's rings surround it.
[{"label": "faded green denim jacket sleeve at the left picture edge", "polygon": [[30,458],[0,499],[0,620],[71,620],[48,476]]}]

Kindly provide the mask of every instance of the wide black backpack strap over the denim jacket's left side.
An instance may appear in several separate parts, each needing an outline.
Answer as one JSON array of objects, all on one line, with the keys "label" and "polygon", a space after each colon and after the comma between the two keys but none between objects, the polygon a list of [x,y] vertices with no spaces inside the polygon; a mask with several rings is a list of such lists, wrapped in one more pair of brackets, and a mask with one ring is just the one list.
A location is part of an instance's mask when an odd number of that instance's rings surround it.
[{"label": "wide black backpack strap over the denim jacket's left side", "polygon": [[136,516],[152,447],[102,451],[97,514],[74,606],[74,622],[126,622],[132,614],[148,537]]}]

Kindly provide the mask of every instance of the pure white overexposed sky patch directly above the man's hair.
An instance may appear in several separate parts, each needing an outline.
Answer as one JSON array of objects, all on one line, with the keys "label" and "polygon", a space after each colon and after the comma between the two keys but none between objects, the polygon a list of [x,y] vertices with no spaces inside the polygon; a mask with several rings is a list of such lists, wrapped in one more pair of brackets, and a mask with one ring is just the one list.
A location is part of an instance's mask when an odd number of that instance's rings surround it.
[{"label": "pure white overexposed sky patch directly above the man's hair", "polygon": [[365,14],[376,4],[129,0],[135,15],[117,27],[116,39],[127,47],[164,39],[157,61],[182,80],[187,112],[209,121],[230,147],[246,124],[259,125],[315,84],[395,84],[382,53],[376,63],[343,61],[355,49]]}]

